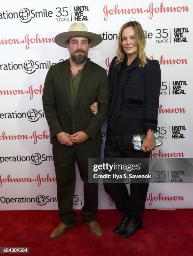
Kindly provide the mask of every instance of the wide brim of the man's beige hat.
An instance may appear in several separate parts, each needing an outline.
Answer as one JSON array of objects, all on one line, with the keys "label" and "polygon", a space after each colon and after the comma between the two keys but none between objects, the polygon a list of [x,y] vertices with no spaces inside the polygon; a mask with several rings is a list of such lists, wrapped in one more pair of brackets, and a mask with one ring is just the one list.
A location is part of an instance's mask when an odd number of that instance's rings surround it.
[{"label": "wide brim of the man's beige hat", "polygon": [[97,46],[103,41],[103,38],[98,34],[87,31],[68,31],[63,32],[55,36],[54,41],[61,47],[67,48],[66,42],[71,37],[82,36],[87,37],[90,40],[90,48]]}]

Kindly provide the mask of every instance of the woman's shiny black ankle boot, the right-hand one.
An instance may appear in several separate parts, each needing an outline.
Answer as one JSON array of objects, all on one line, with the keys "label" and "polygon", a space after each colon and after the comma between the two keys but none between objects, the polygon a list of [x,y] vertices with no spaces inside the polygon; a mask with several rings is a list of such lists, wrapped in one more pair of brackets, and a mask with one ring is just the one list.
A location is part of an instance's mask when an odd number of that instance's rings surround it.
[{"label": "woman's shiny black ankle boot, the right-hand one", "polygon": [[137,218],[130,218],[128,223],[125,225],[125,228],[120,233],[120,237],[133,236],[135,231],[141,228],[143,228],[143,221],[141,216]]}]

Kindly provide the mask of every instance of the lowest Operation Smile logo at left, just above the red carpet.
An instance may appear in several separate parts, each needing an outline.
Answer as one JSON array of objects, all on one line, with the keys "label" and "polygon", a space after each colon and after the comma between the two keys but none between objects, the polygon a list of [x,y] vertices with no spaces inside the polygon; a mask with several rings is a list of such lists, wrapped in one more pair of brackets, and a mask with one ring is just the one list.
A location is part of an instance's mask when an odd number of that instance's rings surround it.
[{"label": "lowest Operation Smile logo at left, just above the red carpet", "polygon": [[37,197],[0,197],[1,203],[36,203],[36,205],[44,206],[48,202],[57,202],[56,197],[50,197],[45,195],[37,195]]}]

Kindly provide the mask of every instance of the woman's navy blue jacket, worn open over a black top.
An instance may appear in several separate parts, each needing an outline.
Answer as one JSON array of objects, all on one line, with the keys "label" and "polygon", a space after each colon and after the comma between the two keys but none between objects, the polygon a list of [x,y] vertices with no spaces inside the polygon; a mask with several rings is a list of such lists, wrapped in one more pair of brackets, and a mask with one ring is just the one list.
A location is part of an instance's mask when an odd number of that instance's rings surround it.
[{"label": "woman's navy blue jacket, worn open over a black top", "polygon": [[[109,68],[110,86],[110,115],[113,113],[117,90],[117,74],[121,63],[115,64],[113,58]],[[144,119],[146,128],[157,130],[158,107],[161,87],[160,64],[147,58],[144,67],[138,67],[139,60],[135,59],[127,68],[128,77],[123,87],[123,104],[120,117]],[[113,93],[115,92],[115,93]]]}]

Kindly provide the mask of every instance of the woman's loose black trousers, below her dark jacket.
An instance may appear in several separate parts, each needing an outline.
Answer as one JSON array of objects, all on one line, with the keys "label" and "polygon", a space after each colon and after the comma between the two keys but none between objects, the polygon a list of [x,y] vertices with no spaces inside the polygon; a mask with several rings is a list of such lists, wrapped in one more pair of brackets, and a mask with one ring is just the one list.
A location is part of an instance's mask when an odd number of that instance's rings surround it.
[{"label": "woman's loose black trousers, below her dark jacket", "polygon": [[[124,134],[113,134],[108,131],[105,142],[105,158],[150,158],[150,152],[135,151],[132,147],[133,134],[144,132],[141,129]],[[148,183],[131,183],[130,195],[126,184],[104,184],[105,191],[115,202],[118,210],[128,213],[131,217],[137,217],[145,210],[145,201],[148,192]]]}]

